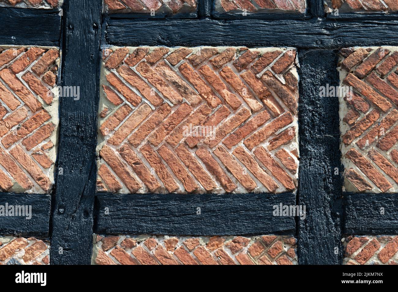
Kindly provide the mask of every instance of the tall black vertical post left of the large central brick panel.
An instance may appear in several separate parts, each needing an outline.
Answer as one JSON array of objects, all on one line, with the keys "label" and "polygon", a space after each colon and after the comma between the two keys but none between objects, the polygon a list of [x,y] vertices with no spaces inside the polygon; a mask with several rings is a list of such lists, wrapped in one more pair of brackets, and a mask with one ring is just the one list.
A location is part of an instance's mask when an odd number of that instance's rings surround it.
[{"label": "tall black vertical post left of the large central brick panel", "polygon": [[100,75],[101,0],[64,2],[58,175],[51,264],[90,264],[96,183],[95,149]]}]

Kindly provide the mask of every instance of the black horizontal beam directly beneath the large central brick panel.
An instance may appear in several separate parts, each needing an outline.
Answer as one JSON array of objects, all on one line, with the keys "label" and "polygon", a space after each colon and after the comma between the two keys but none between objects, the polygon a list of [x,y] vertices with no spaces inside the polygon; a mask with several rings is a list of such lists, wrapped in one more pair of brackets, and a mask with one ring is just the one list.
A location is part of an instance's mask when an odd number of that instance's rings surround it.
[{"label": "black horizontal beam directly beneath the large central brick panel", "polygon": [[[296,205],[296,195],[114,195],[96,197],[100,234],[295,234],[295,217],[273,206]],[[109,213],[106,211],[109,210]]]}]

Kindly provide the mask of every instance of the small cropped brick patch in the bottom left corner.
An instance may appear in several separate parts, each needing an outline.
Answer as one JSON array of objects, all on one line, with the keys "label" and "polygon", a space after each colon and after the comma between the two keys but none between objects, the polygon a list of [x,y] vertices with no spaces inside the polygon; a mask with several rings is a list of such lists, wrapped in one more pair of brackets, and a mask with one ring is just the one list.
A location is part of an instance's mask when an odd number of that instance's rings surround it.
[{"label": "small cropped brick patch in the bottom left corner", "polygon": [[0,265],[48,265],[49,242],[34,237],[0,236]]}]

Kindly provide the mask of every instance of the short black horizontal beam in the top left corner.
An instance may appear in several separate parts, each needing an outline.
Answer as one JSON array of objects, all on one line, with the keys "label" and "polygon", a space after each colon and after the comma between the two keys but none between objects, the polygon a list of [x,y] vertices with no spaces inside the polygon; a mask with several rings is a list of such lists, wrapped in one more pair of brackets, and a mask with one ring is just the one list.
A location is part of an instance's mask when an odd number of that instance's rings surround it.
[{"label": "short black horizontal beam in the top left corner", "polygon": [[59,46],[58,9],[0,7],[0,44]]}]

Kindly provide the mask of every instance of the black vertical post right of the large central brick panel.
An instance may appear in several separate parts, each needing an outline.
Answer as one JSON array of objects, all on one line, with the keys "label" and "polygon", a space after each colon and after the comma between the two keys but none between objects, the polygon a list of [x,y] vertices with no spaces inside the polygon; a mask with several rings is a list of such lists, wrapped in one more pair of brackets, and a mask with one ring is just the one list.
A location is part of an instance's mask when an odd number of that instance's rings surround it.
[{"label": "black vertical post right of the large central brick panel", "polygon": [[[320,97],[320,87],[339,85],[332,50],[302,50],[300,60],[300,170],[298,262],[339,265],[342,260],[342,200],[338,97]],[[335,174],[338,170],[338,174]]]}]

